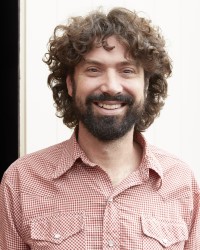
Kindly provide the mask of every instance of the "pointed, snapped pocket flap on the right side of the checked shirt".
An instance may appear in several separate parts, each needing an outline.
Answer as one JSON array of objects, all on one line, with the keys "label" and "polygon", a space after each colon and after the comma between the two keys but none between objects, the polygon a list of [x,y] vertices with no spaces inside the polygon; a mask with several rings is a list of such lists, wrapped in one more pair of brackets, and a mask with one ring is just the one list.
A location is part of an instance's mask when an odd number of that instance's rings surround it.
[{"label": "pointed, snapped pocket flap on the right side of the checked shirt", "polygon": [[182,220],[170,220],[142,216],[143,233],[160,242],[164,247],[169,247],[177,242],[188,239],[187,225]]}]

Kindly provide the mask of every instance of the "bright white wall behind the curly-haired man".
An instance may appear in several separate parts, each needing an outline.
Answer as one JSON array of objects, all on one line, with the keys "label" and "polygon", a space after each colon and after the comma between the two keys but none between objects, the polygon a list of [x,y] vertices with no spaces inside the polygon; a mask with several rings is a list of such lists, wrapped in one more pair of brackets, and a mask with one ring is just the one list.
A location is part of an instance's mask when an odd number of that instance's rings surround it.
[{"label": "bright white wall behind the curly-haired man", "polygon": [[200,180],[199,0],[27,0],[21,5],[26,24],[21,30],[21,91],[25,92],[25,99],[21,97],[21,155],[63,141],[72,132],[55,116],[47,87],[48,69],[42,62],[54,27],[97,6],[105,10],[123,6],[145,12],[161,27],[173,60],[169,97],[161,116],[145,135],[186,161]]}]

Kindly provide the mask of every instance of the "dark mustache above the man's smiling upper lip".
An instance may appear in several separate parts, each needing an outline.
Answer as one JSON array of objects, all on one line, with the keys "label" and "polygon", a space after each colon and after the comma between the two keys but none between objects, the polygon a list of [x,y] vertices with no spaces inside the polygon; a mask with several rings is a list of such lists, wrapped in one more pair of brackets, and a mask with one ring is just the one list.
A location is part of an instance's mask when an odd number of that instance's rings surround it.
[{"label": "dark mustache above the man's smiling upper lip", "polygon": [[109,95],[109,94],[93,94],[93,95],[89,95],[86,98],[86,104],[91,104],[92,102],[97,102],[97,101],[120,101],[123,102],[125,104],[128,105],[133,105],[134,103],[134,99],[129,96],[129,95]]}]

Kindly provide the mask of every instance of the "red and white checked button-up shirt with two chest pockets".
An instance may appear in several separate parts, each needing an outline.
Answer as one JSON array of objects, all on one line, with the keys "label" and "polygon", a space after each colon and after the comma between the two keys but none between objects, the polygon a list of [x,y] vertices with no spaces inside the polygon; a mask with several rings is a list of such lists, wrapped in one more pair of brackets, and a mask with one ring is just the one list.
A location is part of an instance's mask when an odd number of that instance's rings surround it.
[{"label": "red and white checked button-up shirt with two chest pockets", "polygon": [[193,173],[141,134],[135,139],[142,162],[115,188],[74,134],[15,161],[0,187],[0,249],[199,250]]}]

